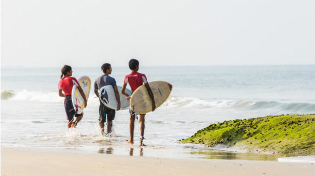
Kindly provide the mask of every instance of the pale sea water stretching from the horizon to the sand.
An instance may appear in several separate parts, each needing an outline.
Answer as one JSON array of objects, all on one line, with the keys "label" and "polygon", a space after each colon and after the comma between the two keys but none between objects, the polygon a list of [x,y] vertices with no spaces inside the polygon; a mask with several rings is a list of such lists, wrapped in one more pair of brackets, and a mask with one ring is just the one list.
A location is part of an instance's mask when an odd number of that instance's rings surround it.
[{"label": "pale sea water stretching from the horizon to the sand", "polygon": [[[61,68],[61,66],[60,66]],[[146,147],[129,138],[129,110],[116,111],[113,133],[104,137],[98,126],[99,101],[92,85],[84,117],[67,129],[64,98],[58,96],[60,68],[1,68],[1,145],[59,147],[80,151],[156,157],[276,160],[277,156],[235,153],[229,148],[181,144],[212,123],[280,114],[315,113],[315,65],[141,66],[148,81],[173,85],[167,101],[145,117]],[[111,76],[122,85],[130,69],[112,65]],[[92,84],[99,67],[73,67],[73,76],[87,75]],[[129,85],[128,88],[130,89]],[[232,149],[233,150],[233,149]]]}]

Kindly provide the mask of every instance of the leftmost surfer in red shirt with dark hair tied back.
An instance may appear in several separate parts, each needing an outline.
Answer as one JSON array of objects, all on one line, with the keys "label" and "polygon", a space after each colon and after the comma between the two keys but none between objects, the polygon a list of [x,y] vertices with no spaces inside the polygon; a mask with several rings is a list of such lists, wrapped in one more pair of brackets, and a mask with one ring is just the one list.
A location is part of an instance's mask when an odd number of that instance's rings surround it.
[{"label": "leftmost surfer in red shirt with dark hair tied back", "polygon": [[[64,65],[64,67],[61,68],[61,75],[60,75],[60,80],[58,83],[58,94],[60,97],[65,97],[65,111],[67,114],[68,128],[76,127],[78,122],[80,122],[80,120],[83,118],[83,112],[81,114],[77,114],[72,104],[71,94],[72,94],[73,85],[76,85],[78,87],[78,90],[80,94],[82,95],[85,102],[84,107],[86,108],[87,106],[87,100],[86,100],[85,94],[78,80],[75,77],[71,77],[71,76],[72,76],[71,66]],[[65,94],[63,94],[62,91],[64,91]],[[74,116],[77,117],[77,119],[73,122]]]}]

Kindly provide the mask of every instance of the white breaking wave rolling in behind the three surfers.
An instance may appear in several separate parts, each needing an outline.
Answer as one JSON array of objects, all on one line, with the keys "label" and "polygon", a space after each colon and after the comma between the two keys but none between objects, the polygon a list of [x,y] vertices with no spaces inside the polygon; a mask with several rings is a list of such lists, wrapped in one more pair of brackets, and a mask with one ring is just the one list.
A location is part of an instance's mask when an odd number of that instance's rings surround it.
[{"label": "white breaking wave rolling in behind the three surfers", "polygon": [[[55,92],[35,92],[23,90],[13,92],[1,91],[1,100],[38,101],[46,103],[63,103],[64,98]],[[88,106],[99,106],[99,100],[94,93],[90,93]],[[246,109],[262,110],[276,109],[290,112],[315,113],[314,103],[289,102],[289,101],[253,101],[253,100],[202,100],[188,97],[169,97],[163,104],[163,108],[198,108],[198,109]]]}]

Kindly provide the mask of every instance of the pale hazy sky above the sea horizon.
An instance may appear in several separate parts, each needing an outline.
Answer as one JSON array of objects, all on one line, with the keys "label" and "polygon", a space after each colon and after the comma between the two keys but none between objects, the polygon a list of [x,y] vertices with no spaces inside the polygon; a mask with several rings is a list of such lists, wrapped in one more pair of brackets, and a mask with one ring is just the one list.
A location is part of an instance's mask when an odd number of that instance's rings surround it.
[{"label": "pale hazy sky above the sea horizon", "polygon": [[315,1],[1,1],[1,65],[315,64]]}]

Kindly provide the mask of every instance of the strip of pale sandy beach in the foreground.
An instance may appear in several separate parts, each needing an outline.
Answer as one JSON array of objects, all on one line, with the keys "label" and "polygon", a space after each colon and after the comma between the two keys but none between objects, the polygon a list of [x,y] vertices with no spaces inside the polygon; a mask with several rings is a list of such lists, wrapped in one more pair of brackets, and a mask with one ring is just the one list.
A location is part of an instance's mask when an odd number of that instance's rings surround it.
[{"label": "strip of pale sandy beach in the foreground", "polygon": [[1,148],[1,175],[314,175],[315,164],[172,159],[77,153],[65,149]]}]

